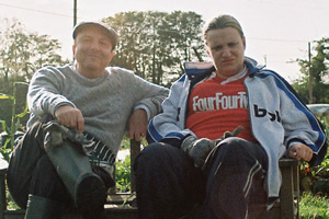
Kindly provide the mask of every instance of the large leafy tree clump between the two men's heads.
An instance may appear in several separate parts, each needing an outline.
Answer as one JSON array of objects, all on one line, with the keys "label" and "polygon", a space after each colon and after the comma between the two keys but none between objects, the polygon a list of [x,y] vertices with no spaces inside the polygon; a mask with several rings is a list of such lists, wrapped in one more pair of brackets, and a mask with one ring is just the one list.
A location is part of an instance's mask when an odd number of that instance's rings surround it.
[{"label": "large leafy tree clump between the two men's heads", "polygon": [[103,19],[121,36],[111,62],[132,69],[157,84],[170,85],[183,73],[184,61],[203,60],[201,27],[195,12],[122,12]]}]

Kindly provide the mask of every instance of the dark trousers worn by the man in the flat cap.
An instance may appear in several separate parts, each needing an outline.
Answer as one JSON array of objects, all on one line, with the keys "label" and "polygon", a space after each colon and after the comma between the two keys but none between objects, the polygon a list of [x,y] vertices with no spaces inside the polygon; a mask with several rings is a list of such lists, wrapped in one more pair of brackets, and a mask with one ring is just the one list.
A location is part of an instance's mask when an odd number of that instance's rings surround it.
[{"label": "dark trousers worn by the man in the flat cap", "polygon": [[[72,198],[44,150],[45,131],[42,125],[45,122],[34,124],[15,146],[8,169],[8,188],[21,208],[26,208],[30,194],[73,208]],[[104,170],[98,166],[92,169],[105,186],[113,185],[113,180]]]}]

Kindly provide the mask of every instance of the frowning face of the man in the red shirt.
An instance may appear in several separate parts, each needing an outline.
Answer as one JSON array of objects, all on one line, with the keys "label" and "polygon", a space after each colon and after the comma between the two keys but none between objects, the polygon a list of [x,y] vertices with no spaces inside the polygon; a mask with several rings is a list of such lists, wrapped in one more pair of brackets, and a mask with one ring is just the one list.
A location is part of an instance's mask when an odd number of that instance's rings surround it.
[{"label": "frowning face of the man in the red shirt", "polygon": [[243,70],[246,41],[237,30],[225,27],[208,31],[206,43],[218,77],[229,78]]}]

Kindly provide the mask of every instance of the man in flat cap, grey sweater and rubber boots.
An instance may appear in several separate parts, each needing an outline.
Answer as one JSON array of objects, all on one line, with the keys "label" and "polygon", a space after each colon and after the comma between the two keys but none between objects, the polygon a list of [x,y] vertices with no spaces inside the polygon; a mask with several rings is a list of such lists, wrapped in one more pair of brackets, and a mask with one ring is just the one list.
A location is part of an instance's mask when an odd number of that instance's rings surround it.
[{"label": "man in flat cap, grey sweater and rubber boots", "polygon": [[73,65],[36,71],[27,92],[27,131],[11,155],[8,187],[26,219],[60,218],[75,207],[103,218],[113,164],[127,130],[139,140],[168,90],[107,67],[116,32],[99,22],[73,28]]}]

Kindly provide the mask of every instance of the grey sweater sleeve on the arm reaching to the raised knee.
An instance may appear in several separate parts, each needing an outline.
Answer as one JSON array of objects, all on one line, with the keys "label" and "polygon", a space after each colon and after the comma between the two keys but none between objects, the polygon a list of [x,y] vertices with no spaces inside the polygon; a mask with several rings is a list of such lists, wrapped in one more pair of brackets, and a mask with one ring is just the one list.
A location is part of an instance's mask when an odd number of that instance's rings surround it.
[{"label": "grey sweater sleeve on the arm reaching to the raised knee", "polygon": [[47,67],[34,73],[27,91],[27,105],[36,116],[55,115],[58,106],[75,104],[60,94],[65,76],[56,68]]}]

